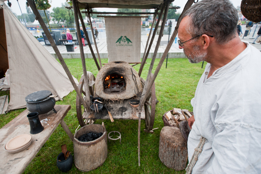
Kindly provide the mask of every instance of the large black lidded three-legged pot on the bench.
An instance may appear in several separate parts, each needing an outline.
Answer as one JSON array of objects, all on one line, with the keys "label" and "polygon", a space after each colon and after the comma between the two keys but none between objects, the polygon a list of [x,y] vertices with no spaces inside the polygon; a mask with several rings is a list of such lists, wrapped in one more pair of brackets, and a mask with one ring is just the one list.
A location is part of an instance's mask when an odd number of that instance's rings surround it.
[{"label": "large black lidded three-legged pot on the bench", "polygon": [[55,96],[53,96],[51,91],[37,91],[26,96],[25,101],[26,108],[30,112],[38,112],[40,114],[48,113],[54,109],[55,106]]}]

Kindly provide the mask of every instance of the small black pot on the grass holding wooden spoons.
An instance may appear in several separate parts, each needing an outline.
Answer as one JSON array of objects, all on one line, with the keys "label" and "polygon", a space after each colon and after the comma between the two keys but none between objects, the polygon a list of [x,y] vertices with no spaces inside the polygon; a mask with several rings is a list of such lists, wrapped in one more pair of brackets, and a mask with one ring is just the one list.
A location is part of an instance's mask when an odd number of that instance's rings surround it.
[{"label": "small black pot on the grass holding wooden spoons", "polygon": [[[61,161],[59,161],[59,160],[61,160]],[[57,156],[56,165],[62,172],[68,172],[69,170],[71,170],[72,165],[73,165],[73,157],[72,157],[72,155],[70,155],[65,160],[64,154],[63,154],[63,152],[61,152]]]}]

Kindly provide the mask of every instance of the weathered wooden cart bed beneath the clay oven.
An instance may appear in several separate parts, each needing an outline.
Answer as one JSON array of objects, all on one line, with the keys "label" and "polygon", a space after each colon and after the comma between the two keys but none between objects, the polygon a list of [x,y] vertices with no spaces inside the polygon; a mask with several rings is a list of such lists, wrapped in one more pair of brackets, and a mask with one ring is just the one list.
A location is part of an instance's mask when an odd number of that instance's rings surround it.
[{"label": "weathered wooden cart bed beneath the clay oven", "polygon": [[[109,109],[109,111],[111,112],[111,115],[113,117],[113,119],[115,120],[138,120],[139,119],[139,107],[132,107],[129,104],[129,101],[132,98],[129,99],[125,99],[124,102],[104,102],[107,105],[107,108]],[[104,104],[103,103],[103,104]],[[83,119],[104,119],[104,120],[109,120],[109,114],[107,112],[107,110],[103,107],[103,109],[101,111],[99,111],[99,113],[95,113],[94,111],[91,111],[91,113],[86,113],[83,116]],[[145,111],[144,111],[144,107],[142,107],[141,110],[141,119],[144,120],[145,119]]]}]

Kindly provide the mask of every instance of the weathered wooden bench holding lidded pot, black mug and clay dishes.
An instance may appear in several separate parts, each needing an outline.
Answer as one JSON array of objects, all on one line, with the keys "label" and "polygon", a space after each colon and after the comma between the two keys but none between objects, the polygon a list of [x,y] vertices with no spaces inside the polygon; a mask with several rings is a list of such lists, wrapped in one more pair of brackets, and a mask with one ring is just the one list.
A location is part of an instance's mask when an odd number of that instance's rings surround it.
[{"label": "weathered wooden bench holding lidded pot, black mug and clay dishes", "polygon": [[[38,134],[30,134],[30,125],[27,118],[28,110],[20,113],[16,118],[0,129],[0,173],[23,173],[27,165],[32,161],[38,151],[42,148],[48,138],[52,135],[59,124],[73,141],[73,134],[67,127],[63,118],[71,109],[70,105],[55,105],[57,113],[50,111],[49,113],[39,115],[44,130]],[[28,134],[32,136],[32,143],[26,149],[16,154],[10,154],[5,150],[6,143],[17,135]],[[57,154],[58,155],[58,154]]]}]

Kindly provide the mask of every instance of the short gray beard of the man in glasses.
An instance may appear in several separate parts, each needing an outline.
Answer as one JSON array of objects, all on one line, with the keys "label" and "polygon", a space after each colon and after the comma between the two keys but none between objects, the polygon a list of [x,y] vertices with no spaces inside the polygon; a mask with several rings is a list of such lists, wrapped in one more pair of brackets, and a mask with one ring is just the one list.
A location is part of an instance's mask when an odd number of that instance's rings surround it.
[{"label": "short gray beard of the man in glasses", "polygon": [[206,52],[202,53],[200,51],[200,46],[194,46],[192,54],[186,54],[184,49],[183,52],[185,56],[188,58],[188,60],[190,61],[190,63],[199,63],[201,61],[206,60],[207,53]]}]

